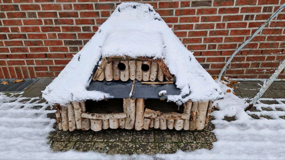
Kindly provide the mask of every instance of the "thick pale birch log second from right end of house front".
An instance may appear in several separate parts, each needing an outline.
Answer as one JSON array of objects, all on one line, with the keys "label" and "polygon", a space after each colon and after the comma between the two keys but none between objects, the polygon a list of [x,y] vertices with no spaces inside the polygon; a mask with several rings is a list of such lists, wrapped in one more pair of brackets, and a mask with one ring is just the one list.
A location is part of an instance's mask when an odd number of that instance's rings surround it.
[{"label": "thick pale birch log second from right end of house front", "polygon": [[209,104],[209,101],[199,102],[199,105],[198,105],[199,114],[197,114],[196,121],[195,121],[197,130],[202,130],[205,126],[208,104]]}]

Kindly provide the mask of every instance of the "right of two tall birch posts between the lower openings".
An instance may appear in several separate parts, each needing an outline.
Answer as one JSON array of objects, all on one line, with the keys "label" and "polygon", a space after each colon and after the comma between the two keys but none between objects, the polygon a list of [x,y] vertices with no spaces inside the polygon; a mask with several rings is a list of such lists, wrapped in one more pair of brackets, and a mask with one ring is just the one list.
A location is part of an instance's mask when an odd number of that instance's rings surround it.
[{"label": "right of two tall birch posts between the lower openings", "polygon": [[144,127],[144,116],[143,116],[143,109],[144,109],[144,98],[137,98],[136,100],[136,121],[134,128],[136,130],[142,130]]}]

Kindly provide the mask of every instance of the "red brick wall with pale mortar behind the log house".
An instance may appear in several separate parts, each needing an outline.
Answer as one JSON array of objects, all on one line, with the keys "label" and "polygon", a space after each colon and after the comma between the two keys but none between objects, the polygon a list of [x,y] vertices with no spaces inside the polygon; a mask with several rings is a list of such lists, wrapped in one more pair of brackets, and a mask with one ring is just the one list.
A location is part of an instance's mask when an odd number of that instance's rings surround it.
[{"label": "red brick wall with pale mortar behind the log house", "polygon": [[[122,1],[129,0],[0,0],[0,78],[56,77]],[[212,75],[219,74],[235,49],[285,3],[137,1],[151,4]],[[276,34],[285,37],[284,28]],[[256,57],[244,55],[240,61],[250,58]],[[246,77],[262,78],[262,73]]]}]

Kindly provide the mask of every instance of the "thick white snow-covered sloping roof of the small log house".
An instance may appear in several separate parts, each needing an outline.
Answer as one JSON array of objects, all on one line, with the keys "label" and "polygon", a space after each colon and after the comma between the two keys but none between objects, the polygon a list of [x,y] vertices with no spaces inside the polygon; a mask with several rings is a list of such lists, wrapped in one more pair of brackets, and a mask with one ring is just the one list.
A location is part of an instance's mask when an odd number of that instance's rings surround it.
[{"label": "thick white snow-covered sloping roof of the small log house", "polygon": [[[101,56],[148,56],[163,58],[180,95],[167,95],[178,104],[223,97],[219,85],[197,62],[150,4],[122,3],[91,40],[73,56],[64,70],[42,91],[49,103],[65,104],[86,99],[112,98],[101,91],[88,91],[90,77]],[[186,98],[182,98],[182,96]]]}]

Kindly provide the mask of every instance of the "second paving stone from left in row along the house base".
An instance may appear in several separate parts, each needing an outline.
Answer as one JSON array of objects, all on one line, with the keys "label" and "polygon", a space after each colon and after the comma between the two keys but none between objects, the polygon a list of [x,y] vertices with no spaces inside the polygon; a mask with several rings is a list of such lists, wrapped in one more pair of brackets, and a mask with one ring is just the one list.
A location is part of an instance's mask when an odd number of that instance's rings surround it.
[{"label": "second paving stone from left in row along the house base", "polygon": [[93,130],[74,130],[70,134],[70,141],[82,142],[82,141],[91,141],[93,137]]}]

